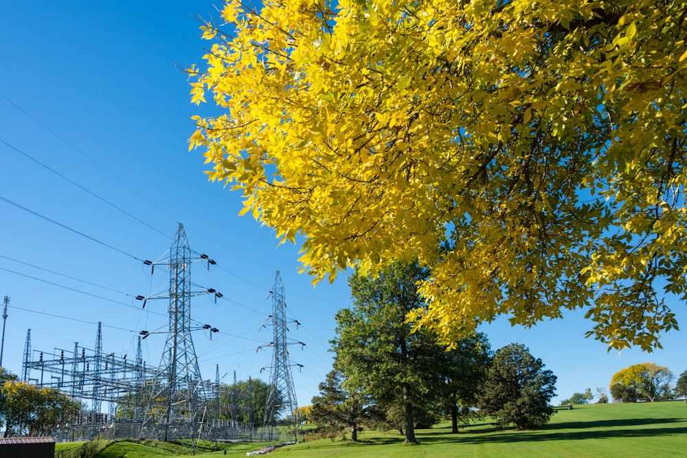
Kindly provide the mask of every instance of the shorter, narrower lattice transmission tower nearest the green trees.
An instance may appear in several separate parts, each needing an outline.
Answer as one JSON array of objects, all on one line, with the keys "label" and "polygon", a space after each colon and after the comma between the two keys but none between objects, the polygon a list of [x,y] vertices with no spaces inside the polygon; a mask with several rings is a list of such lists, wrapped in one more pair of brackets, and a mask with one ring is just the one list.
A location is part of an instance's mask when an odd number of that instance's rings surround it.
[{"label": "shorter, narrower lattice transmission tower nearest the green trees", "polygon": [[[286,300],[284,299],[284,283],[279,271],[274,276],[272,288],[272,316],[269,318],[269,325],[273,329],[273,340],[262,347],[272,347],[272,362],[269,366],[269,386],[267,389],[267,402],[264,408],[262,419],[262,440],[275,440],[274,437],[276,422],[278,419],[289,419],[293,434],[293,439],[298,440],[298,424],[296,410],[295,386],[291,366],[302,367],[302,364],[292,364],[289,358],[289,345],[305,345],[303,342],[290,342],[287,333],[289,323],[300,325],[296,320],[287,321],[286,319]],[[263,369],[267,369],[264,367]],[[290,428],[291,429],[291,428]]]}]

